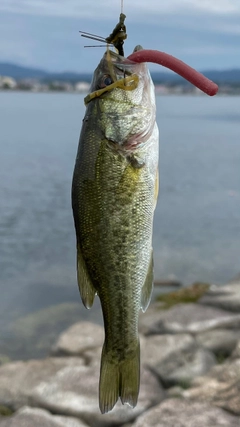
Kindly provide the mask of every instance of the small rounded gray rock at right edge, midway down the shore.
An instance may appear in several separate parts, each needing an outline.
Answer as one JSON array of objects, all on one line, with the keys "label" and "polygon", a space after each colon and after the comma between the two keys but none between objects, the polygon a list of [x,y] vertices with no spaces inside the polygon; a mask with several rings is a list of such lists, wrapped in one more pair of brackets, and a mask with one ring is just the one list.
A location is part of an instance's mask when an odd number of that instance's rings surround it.
[{"label": "small rounded gray rock at right edge, midway down the shore", "polygon": [[196,335],[196,341],[200,346],[223,357],[230,356],[239,338],[239,332],[229,329],[215,329]]}]

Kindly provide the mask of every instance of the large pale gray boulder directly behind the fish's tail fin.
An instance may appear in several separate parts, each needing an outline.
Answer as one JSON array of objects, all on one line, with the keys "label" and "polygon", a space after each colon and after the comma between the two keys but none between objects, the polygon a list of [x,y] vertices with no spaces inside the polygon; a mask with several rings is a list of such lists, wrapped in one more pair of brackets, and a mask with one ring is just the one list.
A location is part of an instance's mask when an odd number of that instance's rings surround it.
[{"label": "large pale gray boulder directly behind the fish's tail fin", "polygon": [[79,357],[9,363],[0,366],[0,404],[13,410],[24,405],[40,407],[101,427],[132,422],[165,397],[156,377],[143,369],[136,408],[118,402],[111,413],[102,415],[98,407],[99,371],[100,360],[86,366]]}]

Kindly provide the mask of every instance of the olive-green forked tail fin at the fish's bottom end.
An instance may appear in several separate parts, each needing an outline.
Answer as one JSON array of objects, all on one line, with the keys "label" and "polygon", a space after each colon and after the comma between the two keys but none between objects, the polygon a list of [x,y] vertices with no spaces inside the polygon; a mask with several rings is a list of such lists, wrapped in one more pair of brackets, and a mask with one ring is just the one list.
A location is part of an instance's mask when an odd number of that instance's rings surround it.
[{"label": "olive-green forked tail fin at the fish's bottom end", "polygon": [[99,383],[99,407],[102,414],[113,409],[120,397],[122,404],[134,408],[137,404],[140,383],[140,345],[131,359],[109,360],[103,346]]}]

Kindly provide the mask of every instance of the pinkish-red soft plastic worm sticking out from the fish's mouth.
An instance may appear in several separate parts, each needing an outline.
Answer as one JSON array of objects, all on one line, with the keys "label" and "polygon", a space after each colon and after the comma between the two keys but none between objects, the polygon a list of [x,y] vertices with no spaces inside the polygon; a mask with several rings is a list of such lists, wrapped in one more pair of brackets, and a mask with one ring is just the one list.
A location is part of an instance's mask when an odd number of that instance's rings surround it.
[{"label": "pinkish-red soft plastic worm sticking out from the fish's mouth", "polygon": [[218,91],[218,85],[216,85],[216,83],[212,82],[203,74],[185,64],[183,61],[180,61],[180,59],[177,59],[172,55],[168,55],[165,52],[160,52],[159,50],[142,49],[132,53],[128,56],[127,59],[134,62],[153,62],[154,64],[167,67],[182,76],[184,79],[188,80],[190,83],[201,89],[209,96],[216,95]]}]

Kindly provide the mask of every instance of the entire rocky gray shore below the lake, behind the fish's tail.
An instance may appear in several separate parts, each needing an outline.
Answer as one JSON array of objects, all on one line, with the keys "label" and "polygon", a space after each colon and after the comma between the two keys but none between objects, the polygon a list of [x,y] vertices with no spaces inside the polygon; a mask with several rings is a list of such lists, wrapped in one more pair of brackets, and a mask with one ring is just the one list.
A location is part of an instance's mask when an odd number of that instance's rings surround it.
[{"label": "entire rocky gray shore below the lake, behind the fish's tail", "polygon": [[118,402],[100,414],[104,331],[79,322],[57,338],[49,357],[2,363],[0,427],[240,426],[240,277],[205,287],[196,301],[192,289],[184,291],[190,302],[180,289],[140,315],[136,408]]}]

